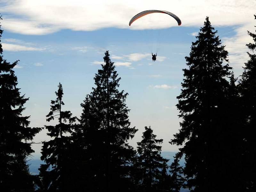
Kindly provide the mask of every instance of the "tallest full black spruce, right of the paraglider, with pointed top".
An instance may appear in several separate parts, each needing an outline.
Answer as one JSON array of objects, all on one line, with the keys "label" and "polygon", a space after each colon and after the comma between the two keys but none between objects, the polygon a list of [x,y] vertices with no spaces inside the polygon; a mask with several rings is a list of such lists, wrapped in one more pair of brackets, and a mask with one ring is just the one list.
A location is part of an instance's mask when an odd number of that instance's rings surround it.
[{"label": "tallest full black spruce, right of the paraglider, with pointed top", "polygon": [[[183,88],[177,97],[183,121],[171,140],[172,144],[183,145],[177,157],[185,155],[184,174],[189,178],[188,187],[196,192],[233,191],[240,185],[234,171],[227,168],[234,160],[228,154],[240,144],[229,137],[236,131],[230,127],[227,114],[231,68],[223,63],[228,62],[228,52],[213,30],[206,17],[189,57],[185,57],[188,69],[183,69]],[[233,182],[227,182],[230,180]]]}]

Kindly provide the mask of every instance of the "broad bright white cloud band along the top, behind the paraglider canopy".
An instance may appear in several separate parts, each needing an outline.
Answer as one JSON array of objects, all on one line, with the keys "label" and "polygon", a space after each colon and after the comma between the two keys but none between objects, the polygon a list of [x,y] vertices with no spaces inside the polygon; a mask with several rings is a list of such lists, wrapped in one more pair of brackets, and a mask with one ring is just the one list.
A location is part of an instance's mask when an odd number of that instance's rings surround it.
[{"label": "broad bright white cloud band along the top, behind the paraglider canopy", "polygon": [[[179,27],[173,18],[161,13],[142,17],[129,27],[129,20],[142,10],[152,9],[152,4],[154,9],[170,7],[168,11],[180,17],[181,26],[202,26],[207,15],[214,26],[248,24],[247,18],[253,17],[256,7],[254,0],[162,0],[161,4],[154,0],[98,0],[90,3],[81,0],[12,0],[2,5],[2,14],[6,13],[2,23],[4,29],[27,35],[44,35],[61,29]],[[17,19],[19,17],[22,19]]]}]

